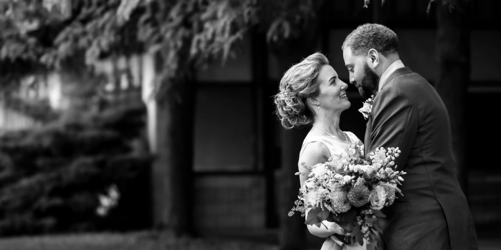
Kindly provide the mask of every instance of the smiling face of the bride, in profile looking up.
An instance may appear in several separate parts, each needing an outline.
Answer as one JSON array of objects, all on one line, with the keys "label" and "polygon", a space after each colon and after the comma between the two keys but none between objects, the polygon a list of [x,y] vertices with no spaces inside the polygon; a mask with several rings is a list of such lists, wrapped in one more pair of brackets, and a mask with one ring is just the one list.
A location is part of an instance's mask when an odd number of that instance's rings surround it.
[{"label": "smiling face of the bride, in profile looking up", "polygon": [[348,84],[338,77],[338,73],[331,65],[324,65],[319,72],[320,93],[317,97],[320,108],[327,110],[343,111],[350,107],[351,103],[346,95]]}]

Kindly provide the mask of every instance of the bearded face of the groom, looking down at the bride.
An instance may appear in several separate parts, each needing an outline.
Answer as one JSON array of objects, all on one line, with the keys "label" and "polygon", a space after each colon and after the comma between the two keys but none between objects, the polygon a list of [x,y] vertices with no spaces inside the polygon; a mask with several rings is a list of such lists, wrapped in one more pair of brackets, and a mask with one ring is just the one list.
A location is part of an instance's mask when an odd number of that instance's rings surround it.
[{"label": "bearded face of the groom, looking down at the bride", "polygon": [[367,56],[353,54],[351,48],[345,48],[343,58],[350,72],[350,83],[358,88],[362,97],[371,97],[377,90],[379,76],[369,67]]}]

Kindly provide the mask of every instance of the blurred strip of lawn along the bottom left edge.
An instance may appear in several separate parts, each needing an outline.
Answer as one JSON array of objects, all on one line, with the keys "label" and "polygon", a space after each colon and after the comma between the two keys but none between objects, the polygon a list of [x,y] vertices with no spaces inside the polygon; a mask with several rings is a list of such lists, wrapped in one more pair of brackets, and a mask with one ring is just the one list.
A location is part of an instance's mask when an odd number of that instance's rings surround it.
[{"label": "blurred strip of lawn along the bottom left edge", "polygon": [[174,237],[153,231],[79,233],[0,238],[2,250],[277,250],[269,243],[227,238]]}]

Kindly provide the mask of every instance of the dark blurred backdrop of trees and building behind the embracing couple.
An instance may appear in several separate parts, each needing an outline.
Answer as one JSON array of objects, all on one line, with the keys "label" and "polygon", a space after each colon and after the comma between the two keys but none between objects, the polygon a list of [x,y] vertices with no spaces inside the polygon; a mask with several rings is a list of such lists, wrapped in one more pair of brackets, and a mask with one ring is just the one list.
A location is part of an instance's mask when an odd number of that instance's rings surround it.
[{"label": "dark blurred backdrop of trees and building behind the embracing couple", "polygon": [[[501,244],[497,0],[0,0],[1,249],[319,249],[288,217],[308,129],[272,96],[392,28],[443,98],[480,249]],[[498,21],[496,21],[498,20]],[[341,129],[364,137],[352,107]]]}]

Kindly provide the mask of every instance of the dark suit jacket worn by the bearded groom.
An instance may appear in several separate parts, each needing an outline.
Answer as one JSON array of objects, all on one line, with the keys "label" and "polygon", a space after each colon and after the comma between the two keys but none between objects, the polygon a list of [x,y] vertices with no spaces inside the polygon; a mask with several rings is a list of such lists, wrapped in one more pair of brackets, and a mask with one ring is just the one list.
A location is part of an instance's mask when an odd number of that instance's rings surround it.
[{"label": "dark suit jacket worn by the bearded groom", "polygon": [[375,95],[365,132],[366,156],[396,146],[402,151],[397,169],[407,174],[404,196],[382,209],[387,249],[478,249],[455,175],[447,110],[433,86],[408,67],[393,72]]}]

